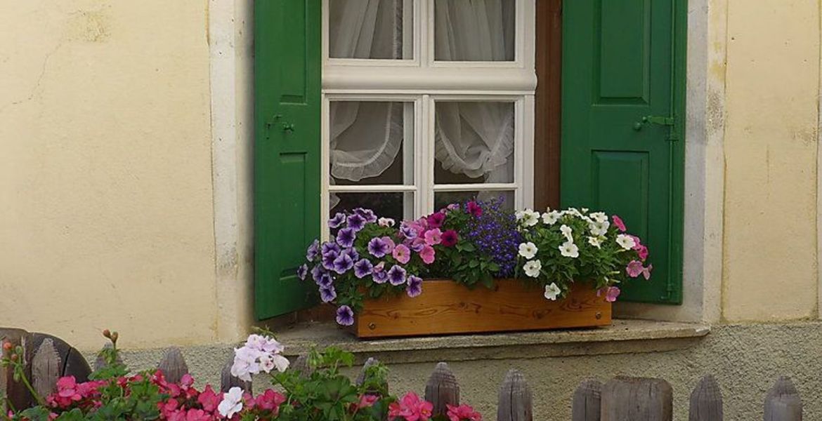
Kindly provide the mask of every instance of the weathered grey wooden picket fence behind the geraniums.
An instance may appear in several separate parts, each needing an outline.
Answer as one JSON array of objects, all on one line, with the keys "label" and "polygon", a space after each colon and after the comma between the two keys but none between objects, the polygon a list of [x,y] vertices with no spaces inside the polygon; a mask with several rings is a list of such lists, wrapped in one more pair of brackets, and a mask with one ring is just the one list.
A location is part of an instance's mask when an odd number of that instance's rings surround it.
[{"label": "weathered grey wooden picket fence behind the geraniums", "polygon": [[[0,328],[0,342],[25,348],[26,376],[41,395],[55,391],[57,379],[75,376],[78,382],[85,381],[91,373],[85,359],[66,342],[54,336],[28,333],[16,329]],[[363,373],[375,360],[369,359],[363,366]],[[220,389],[242,387],[252,391],[249,382],[242,382],[231,376],[233,359],[229,359],[221,373]],[[95,366],[103,364],[97,361]],[[169,348],[157,366],[170,382],[179,382],[188,373],[188,366],[178,348]],[[307,373],[305,357],[296,359],[292,369]],[[30,405],[32,397],[25,387],[11,378],[7,370],[0,370],[0,395],[5,394],[16,408]],[[459,404],[459,382],[448,364],[436,364],[425,386],[425,398],[434,405],[434,414],[444,414],[446,405]],[[515,369],[509,370],[499,390],[497,421],[532,421],[533,396],[524,375]],[[673,414],[673,390],[670,384],[657,378],[617,377],[605,382],[587,379],[576,388],[572,401],[571,421],[670,421]],[[490,417],[487,417],[490,419]],[[723,398],[719,385],[713,376],[705,376],[690,394],[690,421],[721,421],[723,419]],[[801,421],[802,401],[791,379],[778,378],[764,397],[765,421]]]}]

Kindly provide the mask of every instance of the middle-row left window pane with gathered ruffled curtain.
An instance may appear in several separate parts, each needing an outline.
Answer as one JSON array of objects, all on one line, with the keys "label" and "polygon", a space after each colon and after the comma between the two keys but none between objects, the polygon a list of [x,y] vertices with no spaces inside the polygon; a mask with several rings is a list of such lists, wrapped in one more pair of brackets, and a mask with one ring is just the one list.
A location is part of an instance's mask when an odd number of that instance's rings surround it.
[{"label": "middle-row left window pane with gathered ruffled curtain", "polygon": [[413,103],[330,103],[331,185],[413,185]]}]

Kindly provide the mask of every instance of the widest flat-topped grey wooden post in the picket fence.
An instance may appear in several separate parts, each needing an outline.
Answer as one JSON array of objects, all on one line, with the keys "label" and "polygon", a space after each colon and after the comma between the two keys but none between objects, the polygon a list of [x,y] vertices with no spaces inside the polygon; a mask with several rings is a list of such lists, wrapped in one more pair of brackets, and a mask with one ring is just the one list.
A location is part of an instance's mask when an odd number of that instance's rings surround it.
[{"label": "widest flat-topped grey wooden post in the picket fence", "polygon": [[673,390],[658,378],[614,378],[603,386],[601,421],[671,421]]}]

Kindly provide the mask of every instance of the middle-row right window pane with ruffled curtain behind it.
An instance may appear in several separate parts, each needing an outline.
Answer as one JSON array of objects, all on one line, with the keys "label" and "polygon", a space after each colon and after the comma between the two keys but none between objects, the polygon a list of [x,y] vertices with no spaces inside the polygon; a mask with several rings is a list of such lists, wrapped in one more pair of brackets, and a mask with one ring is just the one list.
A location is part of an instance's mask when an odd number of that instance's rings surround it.
[{"label": "middle-row right window pane with ruffled curtain behind it", "polygon": [[434,183],[514,182],[514,103],[437,102]]}]

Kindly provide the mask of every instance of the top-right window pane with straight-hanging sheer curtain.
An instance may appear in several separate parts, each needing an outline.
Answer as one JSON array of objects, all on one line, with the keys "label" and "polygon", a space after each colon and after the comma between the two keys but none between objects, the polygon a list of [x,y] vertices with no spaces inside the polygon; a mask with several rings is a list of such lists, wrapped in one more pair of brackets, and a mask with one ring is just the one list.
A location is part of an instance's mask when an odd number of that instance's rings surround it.
[{"label": "top-right window pane with straight-hanging sheer curtain", "polygon": [[513,62],[516,0],[435,0],[434,58]]}]

